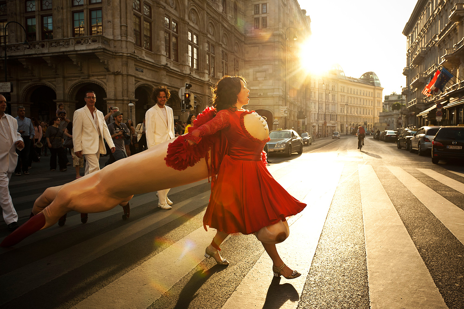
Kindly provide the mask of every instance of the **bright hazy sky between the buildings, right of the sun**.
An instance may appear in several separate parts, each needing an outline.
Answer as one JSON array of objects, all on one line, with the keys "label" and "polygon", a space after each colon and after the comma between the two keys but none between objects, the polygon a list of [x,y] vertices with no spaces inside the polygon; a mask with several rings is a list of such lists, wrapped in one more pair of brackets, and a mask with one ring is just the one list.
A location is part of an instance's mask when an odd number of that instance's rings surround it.
[{"label": "bright hazy sky between the buildings, right of the sun", "polygon": [[[406,37],[402,34],[417,0],[298,0],[311,18],[311,58],[339,63],[346,76],[374,71],[383,95],[406,86]],[[311,45],[317,50],[311,50]],[[321,48],[322,47],[322,48]]]}]

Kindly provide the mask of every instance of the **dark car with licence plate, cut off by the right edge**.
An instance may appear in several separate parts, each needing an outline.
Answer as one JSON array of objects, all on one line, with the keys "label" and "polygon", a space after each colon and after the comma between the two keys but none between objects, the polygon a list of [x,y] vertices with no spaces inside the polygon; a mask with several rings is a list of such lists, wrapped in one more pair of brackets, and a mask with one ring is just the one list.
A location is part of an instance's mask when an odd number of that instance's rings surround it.
[{"label": "dark car with licence plate, cut off by the right edge", "polygon": [[432,163],[441,159],[464,159],[464,126],[441,127],[432,140]]}]

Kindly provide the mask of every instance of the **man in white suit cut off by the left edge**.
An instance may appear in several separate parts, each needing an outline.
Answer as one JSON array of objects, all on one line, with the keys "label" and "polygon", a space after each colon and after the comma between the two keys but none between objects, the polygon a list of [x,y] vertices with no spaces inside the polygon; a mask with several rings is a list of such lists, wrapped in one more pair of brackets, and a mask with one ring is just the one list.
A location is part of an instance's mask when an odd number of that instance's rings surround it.
[{"label": "man in white suit cut off by the left edge", "polygon": [[19,227],[18,214],[13,207],[8,183],[18,163],[16,149],[23,149],[24,142],[18,132],[18,121],[5,111],[6,99],[0,95],[0,206],[8,229],[13,231]]}]

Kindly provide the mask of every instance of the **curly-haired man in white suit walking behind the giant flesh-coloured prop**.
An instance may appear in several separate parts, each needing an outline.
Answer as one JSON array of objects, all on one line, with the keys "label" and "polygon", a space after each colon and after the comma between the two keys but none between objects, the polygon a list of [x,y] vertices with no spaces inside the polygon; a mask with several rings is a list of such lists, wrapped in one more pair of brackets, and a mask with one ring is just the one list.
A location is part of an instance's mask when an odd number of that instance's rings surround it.
[{"label": "curly-haired man in white suit walking behind the giant flesh-coloured prop", "polygon": [[[145,114],[145,136],[148,148],[174,139],[174,114],[171,107],[166,106],[171,94],[165,86],[155,89],[153,100],[155,106],[148,109]],[[173,202],[168,198],[169,189],[158,191],[158,207],[171,209]]]}]

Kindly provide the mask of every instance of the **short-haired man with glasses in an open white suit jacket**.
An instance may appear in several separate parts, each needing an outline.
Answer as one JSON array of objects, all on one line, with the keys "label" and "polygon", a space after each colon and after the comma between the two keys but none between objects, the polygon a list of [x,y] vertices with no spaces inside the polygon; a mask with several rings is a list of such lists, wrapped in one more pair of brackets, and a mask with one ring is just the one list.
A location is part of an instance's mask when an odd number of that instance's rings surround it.
[{"label": "short-haired man with glasses in an open white suit jacket", "polygon": [[[115,152],[116,148],[103,113],[95,107],[95,92],[87,91],[84,100],[85,106],[75,111],[72,119],[72,143],[76,156],[84,157],[87,161],[84,173],[87,175],[100,170],[100,153],[106,153],[103,139],[110,146],[111,152]],[[81,214],[81,221],[87,222],[87,214]]]}]

